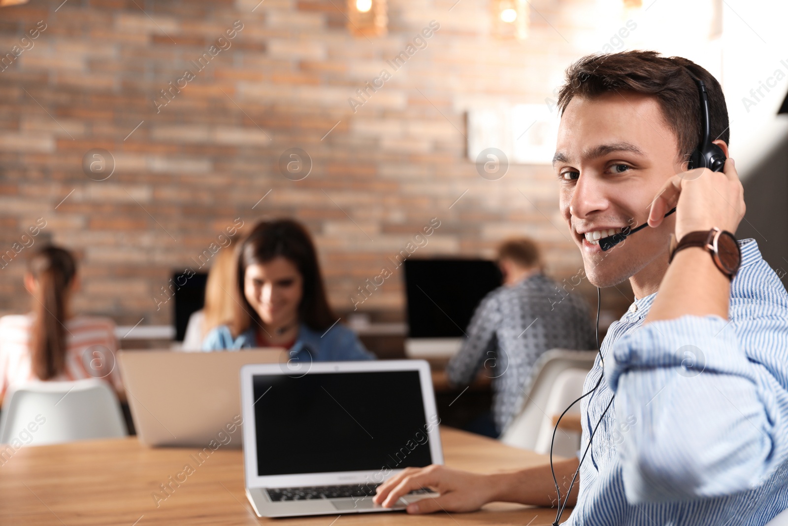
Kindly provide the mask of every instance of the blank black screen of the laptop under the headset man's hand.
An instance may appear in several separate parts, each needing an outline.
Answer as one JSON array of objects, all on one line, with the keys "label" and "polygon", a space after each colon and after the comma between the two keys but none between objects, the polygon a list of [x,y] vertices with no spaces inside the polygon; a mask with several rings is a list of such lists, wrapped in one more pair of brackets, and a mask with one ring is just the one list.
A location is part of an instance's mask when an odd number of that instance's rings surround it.
[{"label": "blank black screen of the laptop under the headset man's hand", "polygon": [[418,371],[255,375],[258,476],[432,464]]}]

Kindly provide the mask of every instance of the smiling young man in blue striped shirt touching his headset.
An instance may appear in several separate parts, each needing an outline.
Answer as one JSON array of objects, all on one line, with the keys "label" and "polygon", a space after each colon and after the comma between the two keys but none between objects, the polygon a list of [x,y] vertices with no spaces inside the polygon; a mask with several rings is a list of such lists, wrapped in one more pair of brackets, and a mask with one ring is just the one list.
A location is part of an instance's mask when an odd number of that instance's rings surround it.
[{"label": "smiling young man in blue striped shirt touching his headset", "polygon": [[766,524],[788,508],[788,294],[756,241],[733,237],[745,203],[722,89],[686,58],[591,55],[559,108],[559,206],[585,274],[628,278],[635,296],[578,399],[578,458],[552,462],[558,483],[551,466],[408,468],[376,502],[433,487],[407,511],[507,501],[559,505],[554,524],[565,505],[567,524]]}]

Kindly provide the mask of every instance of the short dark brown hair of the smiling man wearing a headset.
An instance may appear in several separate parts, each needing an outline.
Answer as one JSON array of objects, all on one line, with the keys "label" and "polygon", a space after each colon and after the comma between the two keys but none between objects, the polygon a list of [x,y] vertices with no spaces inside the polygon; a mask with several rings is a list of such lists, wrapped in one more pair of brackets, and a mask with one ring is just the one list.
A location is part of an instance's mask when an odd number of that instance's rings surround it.
[{"label": "short dark brown hair of the smiling man wearing a headset", "polygon": [[725,95],[716,78],[686,58],[663,57],[656,51],[586,55],[567,68],[558,107],[563,114],[574,97],[593,99],[608,91],[654,95],[665,124],[676,134],[678,155],[686,160],[701,142],[702,133],[700,95],[687,69],[706,84],[711,140],[730,145]]}]

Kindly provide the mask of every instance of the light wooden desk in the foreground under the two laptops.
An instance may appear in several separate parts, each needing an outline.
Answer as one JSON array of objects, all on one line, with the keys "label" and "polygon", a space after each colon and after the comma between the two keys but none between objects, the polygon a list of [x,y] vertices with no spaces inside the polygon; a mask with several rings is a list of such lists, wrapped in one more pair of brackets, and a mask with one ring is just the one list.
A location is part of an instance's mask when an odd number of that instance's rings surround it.
[{"label": "light wooden desk in the foreground under the two laptops", "polygon": [[[504,446],[464,431],[441,429],[446,464],[491,472],[541,464],[547,457]],[[0,524],[5,526],[152,526],[162,524],[551,524],[554,509],[492,503],[476,513],[351,513],[337,516],[258,519],[243,491],[243,454],[222,450],[196,465],[191,448],[147,448],[136,438],[23,446],[0,466]],[[195,467],[156,507],[152,493],[169,476]],[[180,477],[183,479],[183,477]],[[563,518],[569,517],[570,511]],[[535,518],[534,518],[535,517]],[[336,522],[332,522],[336,520]]]}]

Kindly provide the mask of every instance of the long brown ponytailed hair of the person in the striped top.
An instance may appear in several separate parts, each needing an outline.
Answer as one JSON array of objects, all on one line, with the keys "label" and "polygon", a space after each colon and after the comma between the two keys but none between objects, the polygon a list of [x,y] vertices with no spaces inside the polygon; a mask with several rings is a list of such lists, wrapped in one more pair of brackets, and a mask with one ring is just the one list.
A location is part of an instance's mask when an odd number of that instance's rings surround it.
[{"label": "long brown ponytailed hair of the person in the striped top", "polygon": [[65,370],[66,295],[76,274],[76,261],[64,248],[39,248],[28,259],[28,272],[38,285],[30,334],[32,371],[48,380]]}]

